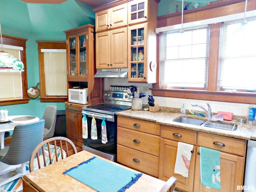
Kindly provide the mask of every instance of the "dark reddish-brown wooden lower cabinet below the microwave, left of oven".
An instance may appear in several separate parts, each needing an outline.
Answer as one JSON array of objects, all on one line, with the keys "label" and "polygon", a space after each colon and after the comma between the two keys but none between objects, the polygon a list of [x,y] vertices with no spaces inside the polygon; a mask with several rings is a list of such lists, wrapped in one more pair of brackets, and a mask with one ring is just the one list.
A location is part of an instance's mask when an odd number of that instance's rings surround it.
[{"label": "dark reddish-brown wooden lower cabinet below the microwave, left of oven", "polygon": [[67,138],[82,148],[82,106],[66,103]]}]

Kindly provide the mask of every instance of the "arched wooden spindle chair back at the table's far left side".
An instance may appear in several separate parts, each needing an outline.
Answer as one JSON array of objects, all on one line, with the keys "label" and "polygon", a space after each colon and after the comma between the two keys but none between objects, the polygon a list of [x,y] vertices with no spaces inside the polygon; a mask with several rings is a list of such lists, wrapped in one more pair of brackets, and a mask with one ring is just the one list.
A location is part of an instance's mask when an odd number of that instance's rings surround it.
[{"label": "arched wooden spindle chair back at the table's far left side", "polygon": [[35,168],[40,169],[41,167],[53,164],[55,161],[59,161],[59,158],[64,159],[72,155],[69,150],[73,150],[72,154],[77,153],[74,143],[66,137],[52,137],[44,140],[32,152],[29,162],[30,172]]}]

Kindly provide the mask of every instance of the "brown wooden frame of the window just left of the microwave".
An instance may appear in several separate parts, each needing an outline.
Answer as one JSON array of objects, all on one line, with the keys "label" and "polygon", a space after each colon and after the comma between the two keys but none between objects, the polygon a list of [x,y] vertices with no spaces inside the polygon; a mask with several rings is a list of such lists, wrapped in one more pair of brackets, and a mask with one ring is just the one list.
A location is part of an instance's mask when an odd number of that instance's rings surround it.
[{"label": "brown wooden frame of the window just left of the microwave", "polygon": [[40,102],[66,102],[68,96],[46,96],[44,53],[41,49],[66,49],[66,41],[36,41],[38,43]]}]

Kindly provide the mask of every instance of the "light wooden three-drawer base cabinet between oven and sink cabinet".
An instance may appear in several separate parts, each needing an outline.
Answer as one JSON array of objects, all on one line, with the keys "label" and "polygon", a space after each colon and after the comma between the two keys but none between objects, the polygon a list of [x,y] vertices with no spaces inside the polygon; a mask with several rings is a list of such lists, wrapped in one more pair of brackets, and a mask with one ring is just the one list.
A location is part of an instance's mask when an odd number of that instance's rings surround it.
[{"label": "light wooden three-drawer base cabinet between oven and sink cabinet", "polygon": [[160,124],[118,116],[117,162],[158,178]]}]

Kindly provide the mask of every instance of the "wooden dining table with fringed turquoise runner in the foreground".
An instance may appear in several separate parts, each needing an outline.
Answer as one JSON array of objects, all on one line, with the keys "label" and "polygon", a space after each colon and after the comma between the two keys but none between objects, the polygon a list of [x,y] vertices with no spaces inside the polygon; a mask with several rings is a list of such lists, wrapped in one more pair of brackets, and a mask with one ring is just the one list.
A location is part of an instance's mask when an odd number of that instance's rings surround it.
[{"label": "wooden dining table with fringed turquoise runner in the foreground", "polygon": [[[34,170],[22,180],[23,192],[158,192],[166,183],[86,150]],[[126,180],[132,181],[130,186],[114,190]]]}]

